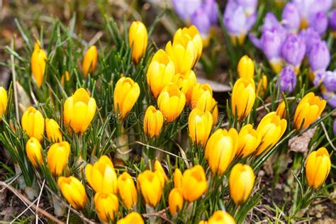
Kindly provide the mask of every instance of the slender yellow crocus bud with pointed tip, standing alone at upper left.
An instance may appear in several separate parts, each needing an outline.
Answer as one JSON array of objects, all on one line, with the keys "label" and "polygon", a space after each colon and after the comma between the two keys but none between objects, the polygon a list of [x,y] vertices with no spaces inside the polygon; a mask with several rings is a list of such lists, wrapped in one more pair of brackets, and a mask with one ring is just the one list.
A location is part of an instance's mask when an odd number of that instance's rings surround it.
[{"label": "slender yellow crocus bud with pointed tip, standing alone at upper left", "polygon": [[45,51],[40,48],[40,42],[38,41],[35,43],[33,55],[31,55],[30,59],[31,72],[38,87],[41,87],[43,84],[46,60],[47,55]]}]

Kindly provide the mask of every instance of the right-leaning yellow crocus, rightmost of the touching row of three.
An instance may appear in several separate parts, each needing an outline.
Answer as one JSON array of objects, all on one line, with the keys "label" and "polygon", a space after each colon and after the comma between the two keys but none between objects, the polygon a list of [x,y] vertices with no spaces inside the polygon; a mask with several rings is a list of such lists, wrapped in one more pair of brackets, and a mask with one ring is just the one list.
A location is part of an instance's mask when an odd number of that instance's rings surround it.
[{"label": "right-leaning yellow crocus, rightmost of the touching row of three", "polygon": [[267,152],[284,135],[287,128],[287,121],[276,115],[276,112],[267,113],[257,127],[257,133],[262,136],[261,143],[257,147],[256,155]]}]

